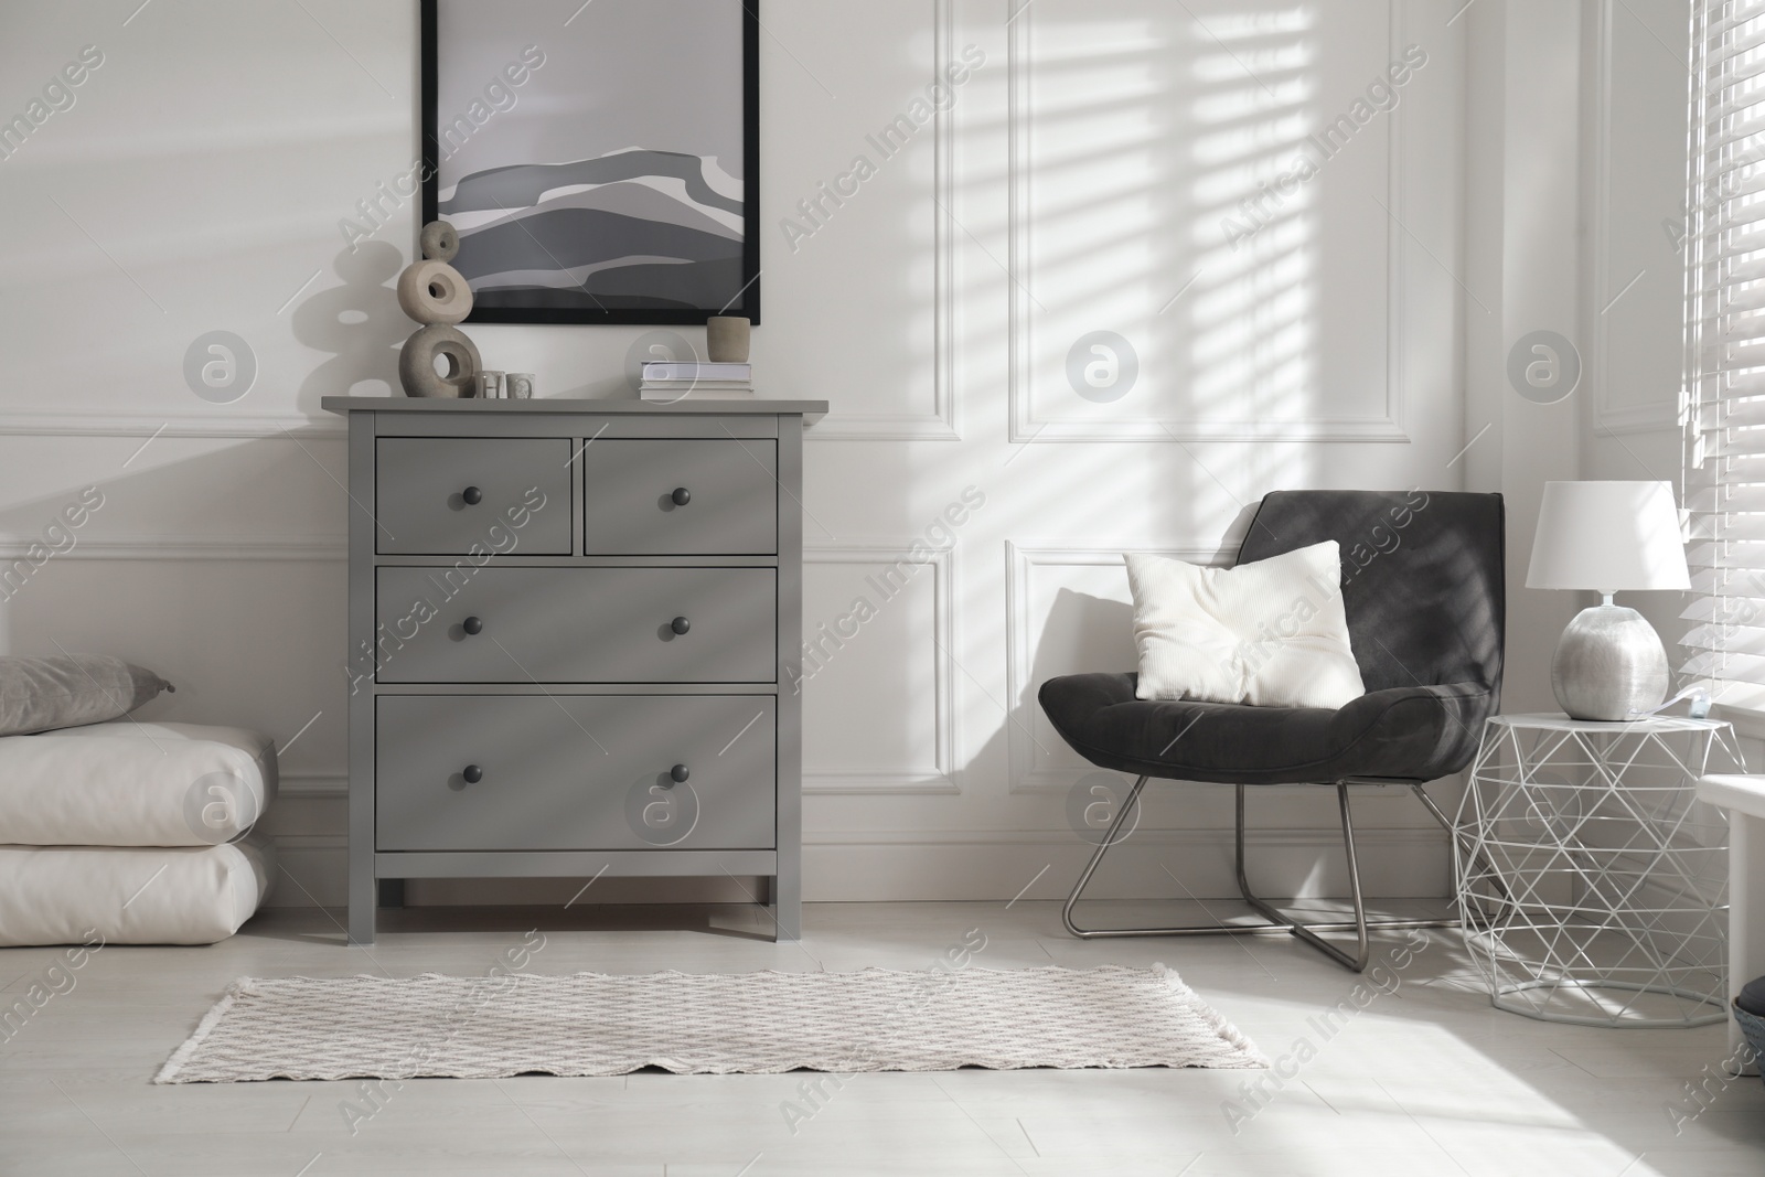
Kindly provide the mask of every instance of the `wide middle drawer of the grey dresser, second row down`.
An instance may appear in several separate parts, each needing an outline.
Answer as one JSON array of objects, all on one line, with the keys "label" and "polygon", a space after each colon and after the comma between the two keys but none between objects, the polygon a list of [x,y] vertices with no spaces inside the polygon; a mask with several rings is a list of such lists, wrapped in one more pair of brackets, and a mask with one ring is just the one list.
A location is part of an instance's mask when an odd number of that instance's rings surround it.
[{"label": "wide middle drawer of the grey dresser, second row down", "polygon": [[376,570],[379,683],[775,683],[775,568]]}]

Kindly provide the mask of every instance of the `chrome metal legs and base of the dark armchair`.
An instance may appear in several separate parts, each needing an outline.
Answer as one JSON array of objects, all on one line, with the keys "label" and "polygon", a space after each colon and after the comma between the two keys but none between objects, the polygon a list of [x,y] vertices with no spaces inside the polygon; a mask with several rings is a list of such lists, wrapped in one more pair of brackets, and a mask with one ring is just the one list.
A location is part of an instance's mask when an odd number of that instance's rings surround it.
[{"label": "chrome metal legs and base of the dark armchair", "polygon": [[[1361,866],[1354,854],[1354,819],[1348,813],[1348,785],[1407,783],[1421,799],[1421,803],[1428,808],[1428,813],[1447,831],[1447,835],[1453,835],[1453,821],[1440,810],[1438,805],[1435,805],[1433,798],[1428,796],[1428,792],[1421,787],[1419,782],[1394,782],[1394,780],[1350,776],[1345,780],[1338,780],[1334,783],[1336,783],[1336,801],[1341,808],[1341,843],[1343,851],[1348,856],[1348,889],[1354,898],[1352,923],[1347,921],[1301,923],[1292,916],[1281,912],[1274,905],[1271,905],[1267,900],[1262,900],[1251,893],[1250,879],[1244,873],[1244,789],[1248,785],[1237,785],[1237,838],[1236,838],[1237,889],[1244,896],[1244,902],[1250,903],[1269,923],[1264,925],[1205,923],[1205,925],[1188,925],[1179,928],[1080,928],[1073,921],[1073,907],[1078,905],[1078,900],[1084,895],[1085,886],[1091,882],[1091,875],[1096,873],[1098,865],[1103,861],[1103,856],[1108,852],[1112,845],[1115,845],[1115,835],[1119,833],[1123,822],[1126,822],[1128,815],[1138,803],[1140,791],[1145,789],[1147,780],[1149,776],[1140,776],[1140,780],[1133,782],[1133,789],[1128,792],[1126,803],[1121,806],[1121,812],[1115,813],[1115,821],[1110,824],[1108,833],[1103,836],[1103,842],[1091,856],[1091,861],[1085,865],[1084,873],[1078,875],[1078,882],[1073,886],[1073,893],[1066,896],[1066,907],[1061,909],[1061,923],[1064,923],[1066,930],[1082,941],[1124,939],[1138,935],[1267,935],[1280,932],[1299,937],[1301,941],[1317,948],[1318,951],[1322,951],[1326,956],[1343,965],[1345,969],[1350,969],[1354,972],[1363,972],[1371,955],[1371,949],[1368,946],[1370,932],[1384,928],[1454,928],[1460,923],[1458,919],[1451,918],[1449,919],[1368,919],[1366,918],[1366,903],[1361,898]],[[1318,935],[1320,932],[1354,932],[1356,935],[1354,955],[1348,955],[1336,944],[1326,941],[1322,935]]]}]

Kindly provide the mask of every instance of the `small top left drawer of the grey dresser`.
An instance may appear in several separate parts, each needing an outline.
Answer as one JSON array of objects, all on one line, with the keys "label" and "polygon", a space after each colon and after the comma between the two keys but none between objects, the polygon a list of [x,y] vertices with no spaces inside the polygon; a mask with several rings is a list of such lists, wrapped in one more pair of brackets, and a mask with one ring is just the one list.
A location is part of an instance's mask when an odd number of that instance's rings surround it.
[{"label": "small top left drawer of the grey dresser", "polygon": [[374,551],[570,554],[568,438],[379,438]]}]

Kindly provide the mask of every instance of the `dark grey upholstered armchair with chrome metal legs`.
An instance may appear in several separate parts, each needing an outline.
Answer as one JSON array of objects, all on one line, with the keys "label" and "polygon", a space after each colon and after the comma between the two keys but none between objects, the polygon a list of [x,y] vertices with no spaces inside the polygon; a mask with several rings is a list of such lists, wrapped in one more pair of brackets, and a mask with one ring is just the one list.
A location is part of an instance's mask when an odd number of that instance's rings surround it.
[{"label": "dark grey upholstered armchair with chrome metal legs", "polygon": [[[1041,685],[1054,729],[1093,764],[1138,776],[1063,909],[1077,937],[1290,932],[1361,971],[1368,928],[1447,921],[1368,921],[1354,854],[1348,785],[1410,785],[1451,835],[1423,783],[1465,768],[1502,692],[1506,625],[1502,496],[1461,492],[1278,491],[1267,494],[1239,563],[1336,540],[1343,607],[1366,693],[1331,711],[1140,701],[1135,674],[1070,674]],[[1151,778],[1237,787],[1237,886],[1266,925],[1082,928],[1073,907]],[[1244,872],[1248,785],[1336,785],[1354,923],[1299,923],[1251,893]],[[1322,932],[1354,932],[1350,956]]]}]

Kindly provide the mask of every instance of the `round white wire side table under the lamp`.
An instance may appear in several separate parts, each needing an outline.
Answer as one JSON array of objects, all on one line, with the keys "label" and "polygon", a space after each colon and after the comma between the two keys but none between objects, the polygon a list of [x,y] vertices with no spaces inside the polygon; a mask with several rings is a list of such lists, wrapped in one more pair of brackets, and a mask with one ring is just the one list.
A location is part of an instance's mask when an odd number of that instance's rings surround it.
[{"label": "round white wire side table under the lamp", "polygon": [[1716,720],[1486,722],[1453,861],[1495,1008],[1608,1027],[1728,1018],[1728,821],[1696,801],[1709,771],[1746,771]]}]

